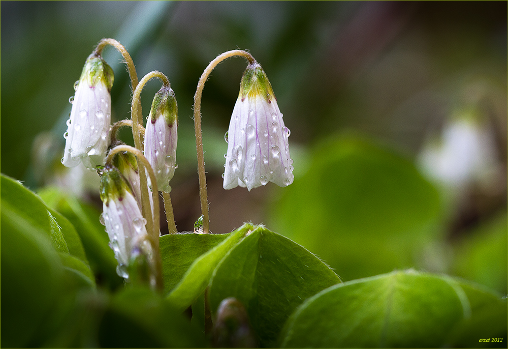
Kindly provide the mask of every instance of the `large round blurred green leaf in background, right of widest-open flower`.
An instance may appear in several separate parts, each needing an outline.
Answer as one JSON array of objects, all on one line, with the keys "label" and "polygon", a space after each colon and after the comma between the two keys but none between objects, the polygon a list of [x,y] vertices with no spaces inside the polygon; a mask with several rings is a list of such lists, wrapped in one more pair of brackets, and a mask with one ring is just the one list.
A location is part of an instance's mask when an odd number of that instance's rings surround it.
[{"label": "large round blurred green leaf in background, right of widest-open flower", "polygon": [[352,136],[324,142],[311,158],[280,190],[269,224],[344,280],[419,266],[428,244],[441,239],[429,229],[438,193],[408,159]]}]

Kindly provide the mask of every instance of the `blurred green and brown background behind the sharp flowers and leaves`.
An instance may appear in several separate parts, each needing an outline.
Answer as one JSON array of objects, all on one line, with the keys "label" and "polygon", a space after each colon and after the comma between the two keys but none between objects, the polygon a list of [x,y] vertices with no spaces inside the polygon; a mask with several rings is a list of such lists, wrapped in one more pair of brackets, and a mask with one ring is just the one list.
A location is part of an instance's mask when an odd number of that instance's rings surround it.
[{"label": "blurred green and brown background behind the sharp flowers and leaves", "polygon": [[[210,228],[265,223],[343,280],[415,267],[506,295],[506,2],[2,2],[1,170],[101,208],[98,177],[60,164],[73,84],[103,37],[138,76],[159,70],[179,106],[177,227],[200,215],[192,103],[219,53],[248,49],[287,127],[294,183],[222,188],[224,133],[246,63],[206,83]],[[130,117],[120,55],[113,121]],[[160,82],[142,94],[144,115]],[[121,139],[132,143],[129,130]]]}]

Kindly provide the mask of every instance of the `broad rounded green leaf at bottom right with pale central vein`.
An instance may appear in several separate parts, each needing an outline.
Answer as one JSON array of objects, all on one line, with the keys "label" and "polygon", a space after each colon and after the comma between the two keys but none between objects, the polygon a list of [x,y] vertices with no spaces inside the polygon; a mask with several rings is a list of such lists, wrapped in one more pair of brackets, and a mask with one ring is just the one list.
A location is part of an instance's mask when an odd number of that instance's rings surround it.
[{"label": "broad rounded green leaf at bottom right with pale central vein", "polygon": [[280,345],[441,347],[485,299],[492,296],[412,270],[349,281],[302,304],[284,325]]}]

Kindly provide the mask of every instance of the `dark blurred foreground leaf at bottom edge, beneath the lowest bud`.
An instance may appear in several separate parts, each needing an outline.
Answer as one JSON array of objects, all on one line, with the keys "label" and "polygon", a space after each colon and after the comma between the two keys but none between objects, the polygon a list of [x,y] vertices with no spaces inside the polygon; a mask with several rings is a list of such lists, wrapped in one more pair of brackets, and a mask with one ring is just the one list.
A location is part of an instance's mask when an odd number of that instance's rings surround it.
[{"label": "dark blurred foreground leaf at bottom edge, beneath the lowest bud", "polygon": [[148,289],[117,294],[99,325],[102,347],[205,347],[206,337],[167,300]]}]

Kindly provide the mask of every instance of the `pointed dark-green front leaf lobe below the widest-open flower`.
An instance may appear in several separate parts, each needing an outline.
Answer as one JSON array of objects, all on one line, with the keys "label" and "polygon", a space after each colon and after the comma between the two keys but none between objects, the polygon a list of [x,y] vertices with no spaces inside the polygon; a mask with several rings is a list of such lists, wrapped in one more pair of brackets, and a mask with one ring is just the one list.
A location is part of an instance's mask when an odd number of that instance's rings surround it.
[{"label": "pointed dark-green front leaf lobe below the widest-open flower", "polygon": [[339,277],[312,253],[259,226],[218,266],[210,305],[215,312],[225,298],[242,302],[261,346],[270,346],[298,305],[338,282]]}]

